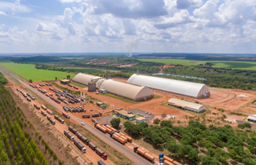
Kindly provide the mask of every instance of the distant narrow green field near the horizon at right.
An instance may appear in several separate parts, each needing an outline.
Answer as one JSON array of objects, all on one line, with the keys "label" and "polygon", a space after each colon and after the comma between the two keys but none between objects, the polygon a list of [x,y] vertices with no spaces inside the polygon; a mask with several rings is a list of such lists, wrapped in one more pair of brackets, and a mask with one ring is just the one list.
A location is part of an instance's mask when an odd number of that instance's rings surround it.
[{"label": "distant narrow green field near the horizon at right", "polygon": [[256,71],[256,62],[231,62],[231,61],[194,61],[186,59],[172,59],[172,58],[137,58],[142,62],[160,62],[168,65],[200,65],[210,62],[214,64],[213,68],[232,68],[232,69],[243,69],[243,70],[254,70]]}]

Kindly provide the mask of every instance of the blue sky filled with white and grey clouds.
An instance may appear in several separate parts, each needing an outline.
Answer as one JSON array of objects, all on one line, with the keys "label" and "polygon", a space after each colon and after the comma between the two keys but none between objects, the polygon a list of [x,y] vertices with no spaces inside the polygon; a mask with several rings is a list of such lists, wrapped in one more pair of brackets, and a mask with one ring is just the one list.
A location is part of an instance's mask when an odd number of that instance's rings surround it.
[{"label": "blue sky filled with white and grey clouds", "polygon": [[0,53],[256,53],[256,0],[0,0]]}]

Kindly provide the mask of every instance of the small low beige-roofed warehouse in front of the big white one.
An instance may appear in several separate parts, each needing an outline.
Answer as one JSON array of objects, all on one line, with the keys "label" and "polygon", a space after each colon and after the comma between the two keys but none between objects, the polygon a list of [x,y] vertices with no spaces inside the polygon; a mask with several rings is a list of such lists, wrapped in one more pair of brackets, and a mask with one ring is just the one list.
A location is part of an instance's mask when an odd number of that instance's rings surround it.
[{"label": "small low beige-roofed warehouse in front of the big white one", "polygon": [[203,113],[206,110],[206,107],[202,104],[195,104],[195,103],[192,103],[189,101],[182,101],[177,98],[169,99],[168,104],[170,106],[175,106],[175,107],[182,108],[185,110],[190,110],[194,113]]}]

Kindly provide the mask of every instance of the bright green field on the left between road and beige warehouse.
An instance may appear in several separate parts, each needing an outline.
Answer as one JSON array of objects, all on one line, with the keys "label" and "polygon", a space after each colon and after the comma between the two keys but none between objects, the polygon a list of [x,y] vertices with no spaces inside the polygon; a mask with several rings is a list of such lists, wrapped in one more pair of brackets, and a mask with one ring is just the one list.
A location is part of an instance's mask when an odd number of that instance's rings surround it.
[{"label": "bright green field on the left between road and beige warehouse", "polygon": [[33,82],[41,80],[55,80],[55,77],[62,79],[66,78],[67,75],[70,75],[70,78],[75,77],[75,74],[66,72],[36,69],[35,65],[17,64],[12,62],[0,62],[0,65],[9,71],[14,72],[14,74],[17,74],[26,80],[32,80]]}]

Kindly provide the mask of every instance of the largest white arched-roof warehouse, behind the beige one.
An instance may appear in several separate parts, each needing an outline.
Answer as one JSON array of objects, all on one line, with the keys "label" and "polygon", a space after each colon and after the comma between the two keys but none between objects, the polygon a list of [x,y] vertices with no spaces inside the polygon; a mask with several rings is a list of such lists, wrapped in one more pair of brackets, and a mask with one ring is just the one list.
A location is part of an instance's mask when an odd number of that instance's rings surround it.
[{"label": "largest white arched-roof warehouse, behind the beige one", "polygon": [[139,86],[148,86],[152,89],[160,89],[166,92],[172,92],[179,95],[186,95],[192,98],[203,98],[209,96],[208,86],[201,83],[191,83],[181,80],[165,79],[160,77],[149,77],[144,75],[133,74],[127,83]]}]

